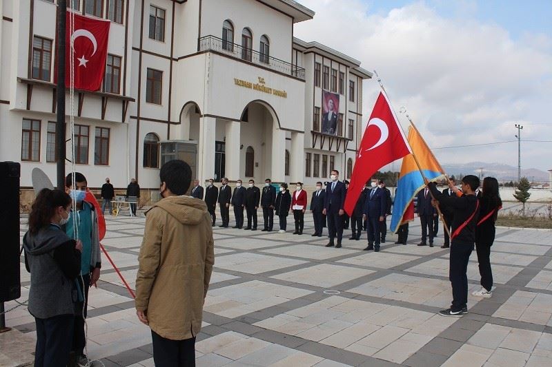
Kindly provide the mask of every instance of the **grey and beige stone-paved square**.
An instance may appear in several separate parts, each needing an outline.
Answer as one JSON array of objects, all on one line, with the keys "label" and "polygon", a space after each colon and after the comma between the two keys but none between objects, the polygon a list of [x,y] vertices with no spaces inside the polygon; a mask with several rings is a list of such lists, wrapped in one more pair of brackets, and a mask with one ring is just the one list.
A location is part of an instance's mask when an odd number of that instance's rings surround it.
[{"label": "grey and beige stone-paved square", "polygon": [[[103,240],[132,287],[144,221],[109,218]],[[366,233],[327,249],[311,231],[311,216],[304,235],[215,227],[198,366],[552,366],[551,231],[498,229],[497,289],[488,300],[470,295],[461,319],[435,314],[451,302],[442,231],[437,247],[417,247],[415,222],[407,246],[388,235],[380,253],[362,251]],[[473,253],[470,290],[479,288],[476,260]],[[26,299],[23,264],[21,274]],[[88,315],[89,357],[153,366],[149,329],[105,258]],[[8,313],[7,323],[34,337],[26,309]]]}]

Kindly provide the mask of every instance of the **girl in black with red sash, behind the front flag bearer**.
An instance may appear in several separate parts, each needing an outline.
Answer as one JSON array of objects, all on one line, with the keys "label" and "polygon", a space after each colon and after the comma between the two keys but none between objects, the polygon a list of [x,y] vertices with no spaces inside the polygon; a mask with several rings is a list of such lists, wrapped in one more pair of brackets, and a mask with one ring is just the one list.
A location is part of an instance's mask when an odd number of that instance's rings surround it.
[{"label": "girl in black with red sash, behind the front flag bearer", "polygon": [[495,240],[495,221],[502,200],[498,193],[498,181],[494,177],[483,180],[480,196],[480,213],[475,228],[475,249],[479,262],[482,289],[471,293],[476,297],[490,298],[493,295],[493,272],[491,271],[491,246]]}]

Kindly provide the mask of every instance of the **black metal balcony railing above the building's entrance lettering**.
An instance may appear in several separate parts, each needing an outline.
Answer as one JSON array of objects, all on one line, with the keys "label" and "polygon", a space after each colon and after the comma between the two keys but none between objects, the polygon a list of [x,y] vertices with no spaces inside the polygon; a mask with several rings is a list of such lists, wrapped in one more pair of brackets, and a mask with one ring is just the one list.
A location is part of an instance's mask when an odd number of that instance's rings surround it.
[{"label": "black metal balcony railing above the building's entrance lettering", "polygon": [[201,37],[198,40],[198,49],[199,51],[213,51],[219,54],[225,54],[234,59],[241,59],[248,63],[274,70],[275,72],[299,78],[302,81],[305,80],[305,70],[303,67],[286,63],[286,61],[276,59],[275,57],[268,56],[267,54],[257,52],[250,48],[244,48],[241,45],[219,39],[215,36]]}]

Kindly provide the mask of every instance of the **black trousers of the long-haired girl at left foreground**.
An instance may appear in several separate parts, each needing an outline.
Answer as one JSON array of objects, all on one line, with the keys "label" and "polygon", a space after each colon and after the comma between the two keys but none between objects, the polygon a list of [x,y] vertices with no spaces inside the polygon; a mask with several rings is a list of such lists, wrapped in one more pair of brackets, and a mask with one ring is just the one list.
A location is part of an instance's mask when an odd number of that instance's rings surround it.
[{"label": "black trousers of the long-haired girl at left foreground", "polygon": [[59,315],[48,319],[34,318],[37,324],[35,367],[67,366],[73,339],[75,315]]}]

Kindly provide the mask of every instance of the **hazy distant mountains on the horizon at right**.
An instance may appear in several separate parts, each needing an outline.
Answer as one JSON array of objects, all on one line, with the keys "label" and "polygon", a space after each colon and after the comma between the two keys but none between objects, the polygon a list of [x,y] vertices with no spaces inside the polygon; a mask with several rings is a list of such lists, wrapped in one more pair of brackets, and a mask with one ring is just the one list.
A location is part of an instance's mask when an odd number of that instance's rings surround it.
[{"label": "hazy distant mountains on the horizon at right", "polygon": [[[469,162],[460,164],[442,164],[443,169],[450,176],[460,176],[460,174],[480,175],[481,167],[483,168],[483,176],[493,176],[497,180],[517,180],[517,167],[503,165],[501,163],[486,163],[486,162]],[[522,177],[525,176],[529,180],[548,181],[549,174],[546,171],[541,171],[536,168],[522,168]]]}]

